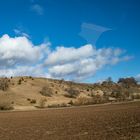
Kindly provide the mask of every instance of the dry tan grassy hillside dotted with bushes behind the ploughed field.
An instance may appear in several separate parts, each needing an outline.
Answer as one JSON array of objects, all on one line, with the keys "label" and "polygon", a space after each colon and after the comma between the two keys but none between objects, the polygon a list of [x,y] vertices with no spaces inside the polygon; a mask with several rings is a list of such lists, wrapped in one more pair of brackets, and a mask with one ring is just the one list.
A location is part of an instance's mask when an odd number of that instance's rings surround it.
[{"label": "dry tan grassy hillside dotted with bushes behind the ploughed field", "polygon": [[34,109],[117,102],[135,98],[140,98],[140,88],[129,80],[84,84],[33,77],[0,79],[1,110],[4,110],[5,106],[8,106],[7,109]]}]

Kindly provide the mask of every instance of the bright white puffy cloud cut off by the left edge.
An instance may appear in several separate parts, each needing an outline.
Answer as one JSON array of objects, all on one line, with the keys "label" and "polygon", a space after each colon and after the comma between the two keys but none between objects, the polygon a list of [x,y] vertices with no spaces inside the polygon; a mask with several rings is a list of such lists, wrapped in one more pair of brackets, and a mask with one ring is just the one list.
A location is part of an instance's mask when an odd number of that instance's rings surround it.
[{"label": "bright white puffy cloud cut off by the left edge", "polygon": [[[49,43],[35,46],[26,37],[9,37],[7,34],[0,38],[0,71],[6,75],[17,72],[19,67],[31,67],[38,64],[49,51]],[[16,70],[15,70],[16,69]],[[22,74],[22,70],[21,70]]]}]

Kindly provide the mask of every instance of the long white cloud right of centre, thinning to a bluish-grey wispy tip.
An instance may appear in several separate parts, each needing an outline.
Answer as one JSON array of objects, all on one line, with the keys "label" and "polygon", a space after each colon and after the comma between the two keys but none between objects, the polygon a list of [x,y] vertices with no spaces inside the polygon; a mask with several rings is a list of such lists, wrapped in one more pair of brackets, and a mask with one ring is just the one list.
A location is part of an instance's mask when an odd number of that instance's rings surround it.
[{"label": "long white cloud right of centre, thinning to a bluish-grey wispy tip", "polygon": [[131,57],[126,57],[121,49],[96,49],[88,44],[80,48],[57,47],[49,53],[45,65],[50,77],[80,81],[94,76],[107,65],[115,65],[129,59]]}]

